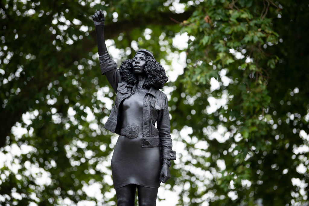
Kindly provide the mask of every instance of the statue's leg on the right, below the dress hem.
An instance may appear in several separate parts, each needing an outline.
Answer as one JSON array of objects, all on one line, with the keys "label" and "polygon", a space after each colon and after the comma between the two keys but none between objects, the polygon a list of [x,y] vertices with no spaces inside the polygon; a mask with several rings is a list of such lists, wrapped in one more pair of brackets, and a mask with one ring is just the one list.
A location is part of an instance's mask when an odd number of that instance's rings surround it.
[{"label": "statue's leg on the right, below the dress hem", "polygon": [[143,187],[138,185],[138,205],[155,206],[159,188]]}]

